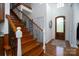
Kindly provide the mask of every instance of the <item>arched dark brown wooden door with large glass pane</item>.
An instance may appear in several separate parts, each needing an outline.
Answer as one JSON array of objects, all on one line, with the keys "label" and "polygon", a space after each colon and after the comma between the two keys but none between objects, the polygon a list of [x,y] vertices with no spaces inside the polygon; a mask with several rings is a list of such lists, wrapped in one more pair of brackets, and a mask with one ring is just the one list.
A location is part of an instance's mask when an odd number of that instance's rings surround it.
[{"label": "arched dark brown wooden door with large glass pane", "polygon": [[65,40],[65,16],[55,18],[55,39]]}]

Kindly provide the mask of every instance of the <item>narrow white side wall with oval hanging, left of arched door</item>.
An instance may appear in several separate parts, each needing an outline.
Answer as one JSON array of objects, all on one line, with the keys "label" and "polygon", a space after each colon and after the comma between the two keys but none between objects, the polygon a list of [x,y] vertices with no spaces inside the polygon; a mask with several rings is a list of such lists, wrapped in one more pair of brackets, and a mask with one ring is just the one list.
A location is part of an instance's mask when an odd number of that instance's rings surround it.
[{"label": "narrow white side wall with oval hanging, left of arched door", "polygon": [[52,20],[52,12],[51,12],[51,6],[49,4],[46,4],[46,23],[45,23],[45,41],[48,43],[54,36],[52,34],[52,29],[49,28],[49,22]]}]

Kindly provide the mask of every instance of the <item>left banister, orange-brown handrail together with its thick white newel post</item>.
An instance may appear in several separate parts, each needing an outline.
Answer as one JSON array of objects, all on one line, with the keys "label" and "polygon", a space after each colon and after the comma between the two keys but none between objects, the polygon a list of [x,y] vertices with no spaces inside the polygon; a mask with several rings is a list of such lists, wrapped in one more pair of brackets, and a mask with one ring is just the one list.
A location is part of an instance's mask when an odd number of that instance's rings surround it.
[{"label": "left banister, orange-brown handrail together with its thick white newel post", "polygon": [[15,27],[14,23],[11,20],[11,17],[9,15],[6,15],[12,29],[13,32],[16,33],[16,38],[17,38],[17,56],[22,56],[22,48],[21,48],[21,38],[22,38],[22,31],[21,31],[21,27]]}]

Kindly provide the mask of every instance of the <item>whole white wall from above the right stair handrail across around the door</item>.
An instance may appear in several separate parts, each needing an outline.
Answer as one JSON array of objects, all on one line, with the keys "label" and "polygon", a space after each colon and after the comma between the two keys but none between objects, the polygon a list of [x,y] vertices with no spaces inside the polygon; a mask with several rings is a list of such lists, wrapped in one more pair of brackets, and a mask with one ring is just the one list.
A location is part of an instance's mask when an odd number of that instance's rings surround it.
[{"label": "whole white wall from above the right stair handrail across around the door", "polygon": [[[72,47],[76,47],[76,41],[73,38],[73,7],[71,4],[67,3],[62,8],[57,8],[56,3],[32,4],[32,12],[33,20],[41,27],[44,25],[45,43],[48,43],[51,39],[55,39],[55,17],[65,16],[65,40],[68,40]],[[37,19],[41,16],[44,16],[44,24]],[[49,22],[51,20],[53,22],[52,29],[49,28]]]}]

